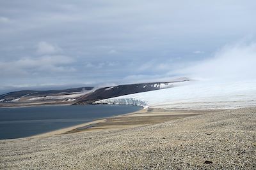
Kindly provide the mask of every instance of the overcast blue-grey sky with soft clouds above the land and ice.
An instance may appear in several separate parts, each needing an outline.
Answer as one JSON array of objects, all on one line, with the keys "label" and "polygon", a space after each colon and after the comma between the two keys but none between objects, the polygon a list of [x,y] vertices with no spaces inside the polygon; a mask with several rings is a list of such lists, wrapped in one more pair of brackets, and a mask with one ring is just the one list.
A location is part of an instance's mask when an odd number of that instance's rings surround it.
[{"label": "overcast blue-grey sky with soft clouds above the land and ice", "polygon": [[0,0],[0,93],[254,76],[255,8],[253,0]]}]

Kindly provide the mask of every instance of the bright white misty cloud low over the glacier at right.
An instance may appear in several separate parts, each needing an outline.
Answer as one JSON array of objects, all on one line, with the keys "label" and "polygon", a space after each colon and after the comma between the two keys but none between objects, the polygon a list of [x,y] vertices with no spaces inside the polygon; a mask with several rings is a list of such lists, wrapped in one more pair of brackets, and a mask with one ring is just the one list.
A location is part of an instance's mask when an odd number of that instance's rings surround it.
[{"label": "bright white misty cloud low over the glacier at right", "polygon": [[176,73],[193,78],[244,80],[256,78],[256,43],[226,45],[210,59],[194,62]]}]

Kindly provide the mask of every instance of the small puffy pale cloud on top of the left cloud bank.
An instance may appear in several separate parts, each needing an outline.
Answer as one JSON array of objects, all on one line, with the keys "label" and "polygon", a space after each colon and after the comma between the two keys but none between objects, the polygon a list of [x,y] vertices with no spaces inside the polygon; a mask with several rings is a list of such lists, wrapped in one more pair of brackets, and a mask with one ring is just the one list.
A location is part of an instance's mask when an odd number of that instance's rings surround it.
[{"label": "small puffy pale cloud on top of the left cloud bank", "polygon": [[41,41],[37,45],[37,53],[39,54],[51,54],[51,53],[59,53],[61,52],[61,48],[56,45],[51,45],[45,41]]}]

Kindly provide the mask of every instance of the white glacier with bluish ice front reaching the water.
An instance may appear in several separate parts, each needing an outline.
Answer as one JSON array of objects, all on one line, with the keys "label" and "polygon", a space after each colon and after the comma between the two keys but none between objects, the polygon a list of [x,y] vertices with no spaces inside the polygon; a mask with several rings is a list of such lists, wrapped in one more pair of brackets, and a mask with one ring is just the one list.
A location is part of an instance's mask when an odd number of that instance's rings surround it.
[{"label": "white glacier with bluish ice front reaching the water", "polygon": [[221,82],[188,81],[182,86],[96,101],[134,104],[147,108],[225,109],[256,106],[256,80]]}]

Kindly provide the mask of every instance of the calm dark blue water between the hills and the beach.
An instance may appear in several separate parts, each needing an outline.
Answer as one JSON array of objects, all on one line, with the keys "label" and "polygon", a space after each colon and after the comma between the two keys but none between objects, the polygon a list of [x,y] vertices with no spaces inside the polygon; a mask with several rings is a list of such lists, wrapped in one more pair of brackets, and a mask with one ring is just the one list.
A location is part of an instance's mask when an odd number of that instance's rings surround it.
[{"label": "calm dark blue water between the hills and the beach", "polygon": [[0,139],[33,136],[140,109],[127,105],[0,108]]}]

